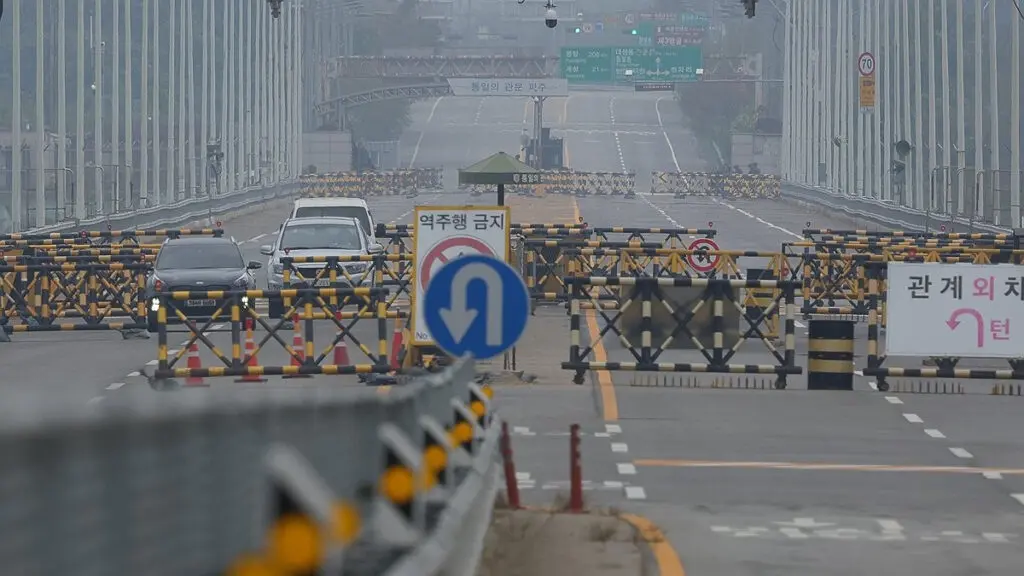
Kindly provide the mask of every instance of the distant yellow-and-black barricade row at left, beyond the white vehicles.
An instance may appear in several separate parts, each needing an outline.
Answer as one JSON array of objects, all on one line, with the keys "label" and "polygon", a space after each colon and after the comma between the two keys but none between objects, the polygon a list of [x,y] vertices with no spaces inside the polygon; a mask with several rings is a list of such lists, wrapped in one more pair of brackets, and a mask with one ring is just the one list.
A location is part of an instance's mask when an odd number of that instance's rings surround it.
[{"label": "distant yellow-and-black barricade row at left, beyond the white vehicles", "polygon": [[440,168],[305,174],[299,176],[299,184],[303,198],[412,197],[424,191],[444,190]]}]

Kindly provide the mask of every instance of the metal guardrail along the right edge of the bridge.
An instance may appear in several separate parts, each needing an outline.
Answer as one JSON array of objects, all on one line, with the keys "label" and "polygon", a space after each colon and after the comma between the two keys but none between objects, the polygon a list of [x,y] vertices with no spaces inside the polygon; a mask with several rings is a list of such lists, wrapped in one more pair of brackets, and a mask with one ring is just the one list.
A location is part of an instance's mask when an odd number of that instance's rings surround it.
[{"label": "metal guardrail along the right edge of the bridge", "polygon": [[897,206],[887,202],[864,198],[860,196],[847,196],[836,194],[817,187],[808,187],[793,182],[782,183],[782,197],[808,202],[835,210],[844,212],[854,217],[863,218],[878,222],[880,224],[892,227],[896,230],[908,230],[914,232],[939,232],[940,227],[950,223],[956,232],[971,230],[974,232],[989,232],[995,234],[1008,234],[1013,231],[1008,228],[997,227],[989,223],[971,221],[964,217],[950,217],[949,214],[929,213],[905,206]]}]

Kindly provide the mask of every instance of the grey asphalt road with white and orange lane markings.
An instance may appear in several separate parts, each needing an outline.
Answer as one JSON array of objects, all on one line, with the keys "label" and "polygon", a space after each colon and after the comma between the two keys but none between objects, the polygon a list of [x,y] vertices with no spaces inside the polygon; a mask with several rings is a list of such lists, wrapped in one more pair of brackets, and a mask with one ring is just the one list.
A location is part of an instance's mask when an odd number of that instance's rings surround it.
[{"label": "grey asphalt road with white and orange lane markings", "polygon": [[[545,110],[555,135],[564,134],[575,169],[636,171],[645,191],[650,170],[701,166],[671,98],[573,93],[549,100]],[[402,138],[403,164],[454,172],[496,150],[517,151],[528,123],[522,100],[417,102]],[[440,195],[419,202],[469,199]],[[375,204],[384,221],[408,221],[411,209],[403,199]],[[270,239],[284,210],[225,228],[245,241],[247,257],[263,261],[258,246]],[[592,225],[713,222],[722,248],[738,250],[778,250],[808,221],[854,225],[772,201],[641,195],[584,198],[579,210]],[[567,330],[546,337],[564,357]],[[609,355],[620,354],[610,339],[605,345]],[[8,401],[79,405],[156,394],[127,377],[155,351],[153,340],[101,334],[16,335],[0,345],[0,363],[17,367],[16,375],[3,377],[3,394]],[[499,389],[525,500],[564,497],[566,433],[580,423],[588,501],[653,520],[691,575],[1016,574],[1024,562],[1018,399],[880,394],[862,378],[862,392],[855,393],[640,387],[629,377],[568,382],[568,375],[555,374],[534,386]]]}]

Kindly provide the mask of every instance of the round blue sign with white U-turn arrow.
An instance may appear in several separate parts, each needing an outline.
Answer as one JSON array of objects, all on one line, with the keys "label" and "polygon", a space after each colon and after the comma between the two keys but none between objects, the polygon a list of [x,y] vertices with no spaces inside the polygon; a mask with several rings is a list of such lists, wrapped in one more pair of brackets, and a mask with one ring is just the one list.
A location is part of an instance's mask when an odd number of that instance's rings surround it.
[{"label": "round blue sign with white U-turn arrow", "polygon": [[515,269],[474,254],[434,273],[423,308],[437,347],[485,360],[514,346],[526,330],[529,293]]}]

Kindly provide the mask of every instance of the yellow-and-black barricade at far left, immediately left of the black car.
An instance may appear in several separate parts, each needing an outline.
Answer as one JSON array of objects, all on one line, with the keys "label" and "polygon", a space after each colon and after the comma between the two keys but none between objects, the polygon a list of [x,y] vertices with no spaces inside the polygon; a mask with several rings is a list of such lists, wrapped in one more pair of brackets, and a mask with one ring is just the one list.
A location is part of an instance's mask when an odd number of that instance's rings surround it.
[{"label": "yellow-and-black barricade at far left, immediately left of the black car", "polygon": [[142,293],[151,269],[146,262],[0,265],[2,331],[136,335],[145,329]]}]

